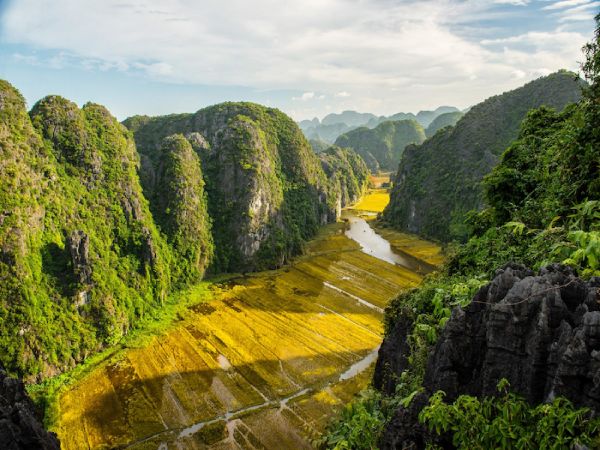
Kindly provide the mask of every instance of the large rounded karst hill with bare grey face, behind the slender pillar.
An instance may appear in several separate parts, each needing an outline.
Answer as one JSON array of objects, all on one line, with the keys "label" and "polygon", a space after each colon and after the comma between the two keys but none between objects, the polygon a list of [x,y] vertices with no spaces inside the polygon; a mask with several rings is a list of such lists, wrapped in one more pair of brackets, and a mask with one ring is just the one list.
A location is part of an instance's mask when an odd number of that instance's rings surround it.
[{"label": "large rounded karst hill with bare grey face, behind the slender pillar", "polygon": [[[215,272],[280,266],[336,218],[337,185],[297,125],[278,110],[225,103],[195,114],[133,117],[125,125],[143,160],[158,161],[162,139],[170,134],[202,138],[194,148],[213,221]],[[152,164],[141,166],[147,192],[153,170]]]}]

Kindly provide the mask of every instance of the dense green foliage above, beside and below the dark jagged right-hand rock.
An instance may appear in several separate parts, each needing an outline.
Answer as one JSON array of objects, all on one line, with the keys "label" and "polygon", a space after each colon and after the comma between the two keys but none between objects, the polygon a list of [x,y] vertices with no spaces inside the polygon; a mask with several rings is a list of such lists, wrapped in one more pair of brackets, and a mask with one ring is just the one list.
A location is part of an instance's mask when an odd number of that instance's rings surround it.
[{"label": "dense green foliage above, beside and below the dark jagged right-hand rock", "polygon": [[[600,16],[597,21],[600,24]],[[596,40],[585,49],[588,59],[583,68],[591,85],[583,89],[581,101],[561,113],[547,107],[529,112],[517,139],[483,179],[479,189],[487,207],[469,214],[469,241],[451,249],[443,270],[427,277],[421,287],[401,294],[386,309],[386,334],[400,318],[412,323],[409,369],[395,379],[395,396],[375,396],[375,403],[353,407],[361,416],[369,416],[360,417],[361,423],[379,429],[373,421],[391,418],[384,405],[406,406],[422,390],[427,358],[451,309],[469,304],[498,267],[507,262],[535,268],[562,262],[584,277],[600,275],[600,27]],[[436,143],[451,142],[452,133],[437,133],[429,145],[442,148]],[[449,405],[440,393],[430,402],[421,412],[422,422],[439,433],[451,433],[457,448],[550,449],[570,448],[574,443],[595,448],[600,444],[598,420],[561,398],[529,405],[504,390],[495,399],[460,396]],[[350,439],[344,427],[356,420],[347,414],[332,425],[323,441]]]}]

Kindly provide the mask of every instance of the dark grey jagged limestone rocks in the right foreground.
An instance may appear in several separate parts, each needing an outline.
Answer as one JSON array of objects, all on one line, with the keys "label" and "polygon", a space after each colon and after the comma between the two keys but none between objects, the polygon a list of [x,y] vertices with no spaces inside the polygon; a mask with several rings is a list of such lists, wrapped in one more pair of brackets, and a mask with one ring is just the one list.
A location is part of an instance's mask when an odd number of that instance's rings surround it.
[{"label": "dark grey jagged limestone rocks in the right foreground", "polygon": [[[583,281],[565,266],[499,270],[468,307],[452,311],[427,364],[424,397],[398,410],[382,448],[422,448],[425,430],[415,419],[432,393],[443,390],[447,401],[493,396],[503,378],[532,404],[563,396],[600,412],[599,287],[600,279]],[[407,367],[398,353],[406,350],[406,325],[397,320],[380,350],[374,380],[387,393]]]}]

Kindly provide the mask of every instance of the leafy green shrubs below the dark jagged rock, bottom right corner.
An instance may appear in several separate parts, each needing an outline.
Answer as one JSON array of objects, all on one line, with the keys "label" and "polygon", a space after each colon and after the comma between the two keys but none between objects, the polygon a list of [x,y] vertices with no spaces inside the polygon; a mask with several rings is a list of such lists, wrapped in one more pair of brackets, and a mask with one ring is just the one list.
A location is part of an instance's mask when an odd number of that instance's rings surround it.
[{"label": "leafy green shrubs below the dark jagged rock, bottom right corner", "polygon": [[419,419],[438,434],[452,433],[452,443],[461,450],[600,446],[600,418],[593,417],[589,409],[576,409],[560,397],[531,407],[509,388],[506,380],[502,380],[498,384],[499,397],[479,400],[461,395],[452,404],[444,403],[444,393],[438,391],[429,399]]}]

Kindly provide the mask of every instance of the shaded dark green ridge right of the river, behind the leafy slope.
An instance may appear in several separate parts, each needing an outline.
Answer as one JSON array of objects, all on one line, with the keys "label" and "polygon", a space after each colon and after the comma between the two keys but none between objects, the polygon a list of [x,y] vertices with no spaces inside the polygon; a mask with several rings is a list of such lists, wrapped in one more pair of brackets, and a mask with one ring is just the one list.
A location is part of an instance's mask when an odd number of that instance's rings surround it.
[{"label": "shaded dark green ridge right of the river, behind the leafy slope", "polygon": [[474,106],[453,128],[409,146],[398,168],[390,224],[443,241],[464,239],[464,216],[483,206],[481,179],[517,136],[526,113],[541,105],[561,110],[581,98],[582,81],[558,72]]}]

